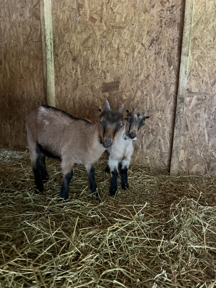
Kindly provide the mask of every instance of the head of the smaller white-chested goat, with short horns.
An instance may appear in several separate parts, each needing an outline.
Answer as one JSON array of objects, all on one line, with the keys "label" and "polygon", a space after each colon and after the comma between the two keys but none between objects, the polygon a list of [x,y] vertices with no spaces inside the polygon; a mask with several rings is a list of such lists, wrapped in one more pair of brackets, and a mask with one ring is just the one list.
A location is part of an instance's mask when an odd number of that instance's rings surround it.
[{"label": "head of the smaller white-chested goat, with short horns", "polygon": [[138,113],[134,109],[130,112],[127,111],[127,117],[125,120],[127,121],[128,126],[128,134],[131,139],[134,139],[137,136],[139,129],[145,125],[145,119],[148,119],[149,116],[145,116],[145,110],[141,113]]}]

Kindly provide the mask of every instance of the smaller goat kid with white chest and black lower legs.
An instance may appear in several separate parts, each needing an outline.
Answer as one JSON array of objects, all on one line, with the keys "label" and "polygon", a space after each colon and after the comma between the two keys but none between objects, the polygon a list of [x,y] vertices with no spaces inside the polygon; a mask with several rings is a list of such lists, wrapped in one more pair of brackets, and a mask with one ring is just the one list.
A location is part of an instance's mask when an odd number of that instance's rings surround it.
[{"label": "smaller goat kid with white chest and black lower legs", "polygon": [[137,133],[145,124],[145,110],[142,113],[132,109],[127,111],[124,128],[116,135],[112,145],[107,149],[109,154],[108,166],[106,171],[111,172],[111,182],[109,193],[115,195],[117,191],[118,166],[122,175],[122,188],[128,188],[128,166],[133,153],[133,141],[137,140]]}]

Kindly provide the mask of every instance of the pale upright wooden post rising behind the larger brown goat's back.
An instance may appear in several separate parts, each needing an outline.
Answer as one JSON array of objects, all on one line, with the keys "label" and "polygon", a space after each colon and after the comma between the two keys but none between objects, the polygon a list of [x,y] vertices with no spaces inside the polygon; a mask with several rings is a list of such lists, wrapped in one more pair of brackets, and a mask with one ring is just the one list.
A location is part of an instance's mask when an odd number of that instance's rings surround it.
[{"label": "pale upright wooden post rising behind the larger brown goat's back", "polygon": [[52,37],[52,0],[40,1],[40,16],[44,89],[48,105],[55,107],[56,98]]}]

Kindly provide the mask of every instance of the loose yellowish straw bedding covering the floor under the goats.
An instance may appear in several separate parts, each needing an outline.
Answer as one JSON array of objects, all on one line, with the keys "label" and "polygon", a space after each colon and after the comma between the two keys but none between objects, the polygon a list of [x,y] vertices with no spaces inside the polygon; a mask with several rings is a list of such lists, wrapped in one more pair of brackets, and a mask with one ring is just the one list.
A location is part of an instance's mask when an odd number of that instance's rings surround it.
[{"label": "loose yellowish straw bedding covering the floor under the goats", "polygon": [[216,287],[214,178],[131,165],[113,198],[101,160],[101,200],[77,165],[59,202],[58,162],[41,195],[27,151],[0,146],[0,158],[0,287]]}]

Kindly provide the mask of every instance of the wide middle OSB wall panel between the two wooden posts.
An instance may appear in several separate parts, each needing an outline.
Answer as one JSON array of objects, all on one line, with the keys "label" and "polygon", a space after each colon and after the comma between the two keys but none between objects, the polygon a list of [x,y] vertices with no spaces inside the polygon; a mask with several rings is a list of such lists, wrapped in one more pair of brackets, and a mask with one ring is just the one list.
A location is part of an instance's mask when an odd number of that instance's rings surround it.
[{"label": "wide middle OSB wall panel between the two wooden posts", "polygon": [[56,106],[91,120],[107,98],[111,107],[146,109],[151,118],[139,134],[134,160],[168,169],[184,1],[52,5]]}]

